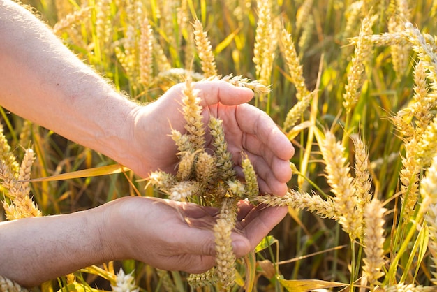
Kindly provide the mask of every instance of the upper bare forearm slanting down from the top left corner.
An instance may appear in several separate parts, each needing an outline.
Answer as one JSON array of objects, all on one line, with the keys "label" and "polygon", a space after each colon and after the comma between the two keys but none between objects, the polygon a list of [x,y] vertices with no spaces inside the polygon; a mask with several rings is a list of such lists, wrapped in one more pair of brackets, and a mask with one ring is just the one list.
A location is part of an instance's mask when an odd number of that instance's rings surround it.
[{"label": "upper bare forearm slanting down from the top left corner", "polygon": [[[0,104],[113,159],[137,106],[27,10],[0,0]],[[126,147],[128,147],[126,145]]]}]

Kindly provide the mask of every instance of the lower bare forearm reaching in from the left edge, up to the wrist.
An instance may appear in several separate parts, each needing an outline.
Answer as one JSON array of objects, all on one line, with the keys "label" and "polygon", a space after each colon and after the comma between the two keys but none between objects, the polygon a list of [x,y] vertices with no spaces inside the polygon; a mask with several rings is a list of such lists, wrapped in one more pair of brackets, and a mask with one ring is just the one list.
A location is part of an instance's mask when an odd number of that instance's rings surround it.
[{"label": "lower bare forearm reaching in from the left edge, up to the wrist", "polygon": [[108,258],[95,210],[0,223],[0,275],[24,286]]}]

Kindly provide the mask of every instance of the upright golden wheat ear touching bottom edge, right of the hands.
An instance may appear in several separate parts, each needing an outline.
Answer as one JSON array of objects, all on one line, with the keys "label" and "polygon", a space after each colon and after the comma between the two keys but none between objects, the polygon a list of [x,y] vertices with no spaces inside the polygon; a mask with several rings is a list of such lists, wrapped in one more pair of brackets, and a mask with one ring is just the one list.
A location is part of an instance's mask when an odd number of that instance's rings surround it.
[{"label": "upright golden wheat ear touching bottom edge, right of the hands", "polygon": [[380,201],[374,198],[364,209],[364,253],[363,272],[367,277],[371,290],[380,284],[378,279],[383,277],[384,266],[384,213],[385,209]]}]

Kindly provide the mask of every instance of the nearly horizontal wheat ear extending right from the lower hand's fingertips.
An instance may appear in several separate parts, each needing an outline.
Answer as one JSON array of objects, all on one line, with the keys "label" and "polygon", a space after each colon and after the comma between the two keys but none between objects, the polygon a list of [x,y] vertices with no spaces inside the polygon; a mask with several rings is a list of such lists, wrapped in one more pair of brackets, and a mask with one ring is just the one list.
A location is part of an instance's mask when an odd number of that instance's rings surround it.
[{"label": "nearly horizontal wheat ear extending right from the lower hand's fingertips", "polygon": [[339,219],[334,200],[323,200],[318,194],[310,195],[290,189],[283,197],[265,194],[258,196],[256,200],[269,206],[289,206],[297,210],[308,210],[320,217]]}]

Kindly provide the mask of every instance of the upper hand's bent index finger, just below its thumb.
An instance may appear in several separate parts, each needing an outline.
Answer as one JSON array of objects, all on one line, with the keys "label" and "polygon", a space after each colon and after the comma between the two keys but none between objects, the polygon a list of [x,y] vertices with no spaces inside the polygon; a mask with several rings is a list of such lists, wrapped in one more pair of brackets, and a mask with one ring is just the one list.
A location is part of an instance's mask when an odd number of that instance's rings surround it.
[{"label": "upper hand's bent index finger, just below its thumb", "polygon": [[[283,160],[290,160],[295,153],[290,140],[279,130],[273,120],[262,110],[251,105],[240,105],[235,110],[235,118],[239,128],[251,136],[246,137],[243,147],[250,152],[258,153],[261,145]],[[253,138],[255,137],[255,138]],[[248,138],[250,138],[248,140]],[[244,141],[243,141],[244,142]],[[265,150],[266,151],[266,150]]]}]

